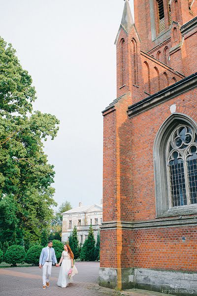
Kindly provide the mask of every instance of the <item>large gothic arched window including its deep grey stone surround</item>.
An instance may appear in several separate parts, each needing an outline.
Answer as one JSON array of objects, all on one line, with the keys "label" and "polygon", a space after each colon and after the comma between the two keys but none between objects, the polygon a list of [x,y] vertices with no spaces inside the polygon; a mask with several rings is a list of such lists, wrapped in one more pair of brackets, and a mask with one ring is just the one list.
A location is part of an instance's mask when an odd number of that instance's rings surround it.
[{"label": "large gothic arched window including its deep grey stone surround", "polygon": [[157,217],[197,211],[197,126],[181,113],[171,114],[154,144]]}]

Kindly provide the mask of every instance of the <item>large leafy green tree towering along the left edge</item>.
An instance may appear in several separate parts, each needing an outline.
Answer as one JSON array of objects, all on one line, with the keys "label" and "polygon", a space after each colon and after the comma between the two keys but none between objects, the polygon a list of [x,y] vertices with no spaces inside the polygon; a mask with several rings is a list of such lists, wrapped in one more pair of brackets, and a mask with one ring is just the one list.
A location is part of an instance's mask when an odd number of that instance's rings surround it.
[{"label": "large leafy green tree towering along the left edge", "polygon": [[29,244],[53,218],[54,167],[43,140],[52,140],[59,120],[33,111],[32,78],[11,44],[0,37],[0,241]]}]

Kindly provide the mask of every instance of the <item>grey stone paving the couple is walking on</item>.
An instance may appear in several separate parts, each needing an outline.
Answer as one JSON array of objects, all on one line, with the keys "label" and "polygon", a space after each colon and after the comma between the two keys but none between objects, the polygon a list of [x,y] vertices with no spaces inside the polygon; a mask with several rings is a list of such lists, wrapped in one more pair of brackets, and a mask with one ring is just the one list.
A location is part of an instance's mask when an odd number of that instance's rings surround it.
[{"label": "grey stone paving the couple is walking on", "polygon": [[161,296],[144,290],[115,291],[98,285],[99,263],[76,262],[79,274],[67,288],[57,286],[59,267],[52,267],[50,287],[42,289],[42,270],[38,267],[0,268],[0,296]]}]

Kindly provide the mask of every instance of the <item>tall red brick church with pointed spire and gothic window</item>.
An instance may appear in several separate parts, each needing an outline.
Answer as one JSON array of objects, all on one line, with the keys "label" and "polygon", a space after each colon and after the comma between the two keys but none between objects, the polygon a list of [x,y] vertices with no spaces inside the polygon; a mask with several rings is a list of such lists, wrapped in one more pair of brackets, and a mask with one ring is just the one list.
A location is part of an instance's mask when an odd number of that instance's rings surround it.
[{"label": "tall red brick church with pointed spire and gothic window", "polygon": [[99,285],[197,295],[197,0],[129,0],[104,111]]}]

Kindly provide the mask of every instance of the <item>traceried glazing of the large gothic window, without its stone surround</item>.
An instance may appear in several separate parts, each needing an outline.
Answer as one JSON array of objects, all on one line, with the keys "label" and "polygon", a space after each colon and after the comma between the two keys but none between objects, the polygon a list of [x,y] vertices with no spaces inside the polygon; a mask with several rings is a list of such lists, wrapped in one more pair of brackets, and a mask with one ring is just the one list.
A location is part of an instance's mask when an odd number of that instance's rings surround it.
[{"label": "traceried glazing of the large gothic window, without its stone surround", "polygon": [[197,134],[189,125],[176,127],[167,143],[170,207],[197,203]]}]

